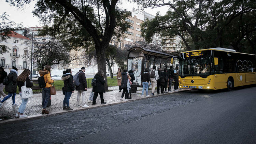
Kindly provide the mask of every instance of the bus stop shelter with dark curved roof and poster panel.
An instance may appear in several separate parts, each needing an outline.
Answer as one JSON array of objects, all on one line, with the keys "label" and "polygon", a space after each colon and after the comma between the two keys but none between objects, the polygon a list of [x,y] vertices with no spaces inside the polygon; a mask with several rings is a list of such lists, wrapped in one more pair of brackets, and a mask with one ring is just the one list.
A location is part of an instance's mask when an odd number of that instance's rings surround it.
[{"label": "bus stop shelter with dark curved roof and poster panel", "polygon": [[135,79],[131,85],[131,92],[136,93],[137,87],[142,87],[142,73],[147,68],[151,71],[153,66],[160,67],[161,70],[171,66],[171,54],[154,51],[152,49],[132,47],[127,58],[127,70],[134,68]]}]

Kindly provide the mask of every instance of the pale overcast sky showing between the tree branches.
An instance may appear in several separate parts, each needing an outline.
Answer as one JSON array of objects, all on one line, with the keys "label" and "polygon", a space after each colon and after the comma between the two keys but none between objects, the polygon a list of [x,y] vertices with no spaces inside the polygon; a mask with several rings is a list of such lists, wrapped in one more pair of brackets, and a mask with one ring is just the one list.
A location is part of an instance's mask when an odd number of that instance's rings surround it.
[{"label": "pale overcast sky showing between the tree branches", "polygon": [[[24,27],[35,27],[42,26],[38,17],[33,16],[32,11],[34,9],[35,1],[32,1],[30,4],[27,4],[24,9],[17,9],[14,6],[10,6],[5,0],[0,0],[0,14],[6,12],[10,17],[10,20],[13,20],[15,23],[22,24]],[[123,9],[132,11],[132,8],[137,9],[138,5],[135,3],[126,2],[123,0],[123,4],[120,6]],[[155,9],[146,9],[145,12],[152,15],[156,15],[159,11],[161,15],[164,15],[168,10],[168,7],[161,7]]]}]

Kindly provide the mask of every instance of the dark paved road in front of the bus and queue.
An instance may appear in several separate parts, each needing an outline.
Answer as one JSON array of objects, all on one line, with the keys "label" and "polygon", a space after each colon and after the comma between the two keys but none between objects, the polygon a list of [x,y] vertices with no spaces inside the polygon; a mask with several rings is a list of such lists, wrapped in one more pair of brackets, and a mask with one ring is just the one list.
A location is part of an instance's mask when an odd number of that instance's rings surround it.
[{"label": "dark paved road in front of the bus and queue", "polygon": [[195,90],[1,125],[0,142],[256,143],[255,90]]}]

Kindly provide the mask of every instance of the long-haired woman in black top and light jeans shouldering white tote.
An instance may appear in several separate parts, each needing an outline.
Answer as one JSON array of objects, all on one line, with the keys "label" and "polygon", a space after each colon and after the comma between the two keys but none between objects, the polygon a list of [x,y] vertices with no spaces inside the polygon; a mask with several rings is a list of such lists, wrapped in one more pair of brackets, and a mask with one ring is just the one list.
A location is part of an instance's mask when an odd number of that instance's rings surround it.
[{"label": "long-haired woman in black top and light jeans shouldering white tote", "polygon": [[[26,81],[26,87],[32,87],[33,86],[33,84],[30,82],[29,75],[30,75],[30,70],[25,69],[17,78],[17,85],[19,87],[20,97],[22,96],[21,87],[24,86],[25,81]],[[22,99],[22,104],[20,104],[19,110],[15,115],[16,118],[17,117],[19,117],[19,118],[28,117],[27,115],[23,114],[24,110],[26,108],[27,102],[28,102],[28,98],[27,99]]]}]

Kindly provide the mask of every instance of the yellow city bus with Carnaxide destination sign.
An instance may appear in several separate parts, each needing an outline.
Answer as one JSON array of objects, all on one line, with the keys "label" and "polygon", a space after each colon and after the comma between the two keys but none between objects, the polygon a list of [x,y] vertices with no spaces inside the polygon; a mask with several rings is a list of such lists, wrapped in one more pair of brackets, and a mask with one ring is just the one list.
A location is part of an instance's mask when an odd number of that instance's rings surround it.
[{"label": "yellow city bus with Carnaxide destination sign", "polygon": [[180,88],[230,91],[237,86],[256,84],[256,55],[209,48],[182,52],[178,58]]}]

